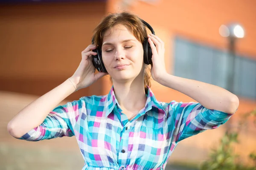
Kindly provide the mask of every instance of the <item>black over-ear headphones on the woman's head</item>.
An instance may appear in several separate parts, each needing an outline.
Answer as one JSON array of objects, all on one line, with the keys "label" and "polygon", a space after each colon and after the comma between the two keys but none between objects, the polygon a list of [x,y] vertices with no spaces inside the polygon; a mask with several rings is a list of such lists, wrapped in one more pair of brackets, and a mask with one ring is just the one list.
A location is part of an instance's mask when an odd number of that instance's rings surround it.
[{"label": "black over-ear headphones on the woman's head", "polygon": [[[143,22],[143,24],[146,27],[148,27],[148,29],[151,31],[152,34],[155,34],[153,28],[147,22],[145,22],[142,19],[140,19],[140,20]],[[93,39],[92,39],[92,44],[94,44]],[[92,55],[94,67],[100,72],[107,73],[107,70],[106,70],[106,68],[103,64],[103,61],[102,61],[101,48],[99,48],[99,46],[98,46],[93,51],[97,53],[97,55],[95,55],[95,56]],[[143,55],[144,63],[147,64],[147,65],[152,64],[152,50],[151,50],[150,44],[148,43],[148,38],[147,37],[143,41],[143,51],[144,51],[144,55]]]}]

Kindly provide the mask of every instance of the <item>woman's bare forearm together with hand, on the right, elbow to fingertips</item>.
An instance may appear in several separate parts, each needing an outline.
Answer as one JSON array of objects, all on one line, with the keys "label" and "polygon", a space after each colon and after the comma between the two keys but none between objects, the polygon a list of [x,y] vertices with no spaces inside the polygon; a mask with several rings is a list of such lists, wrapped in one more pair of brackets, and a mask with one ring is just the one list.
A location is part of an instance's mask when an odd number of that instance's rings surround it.
[{"label": "woman's bare forearm together with hand, on the right, elbow to fingertips", "polygon": [[208,83],[176,77],[167,73],[164,60],[164,43],[156,35],[148,35],[152,49],[151,75],[161,85],[177,90],[198,101],[207,109],[235,113],[239,99],[224,88]]}]

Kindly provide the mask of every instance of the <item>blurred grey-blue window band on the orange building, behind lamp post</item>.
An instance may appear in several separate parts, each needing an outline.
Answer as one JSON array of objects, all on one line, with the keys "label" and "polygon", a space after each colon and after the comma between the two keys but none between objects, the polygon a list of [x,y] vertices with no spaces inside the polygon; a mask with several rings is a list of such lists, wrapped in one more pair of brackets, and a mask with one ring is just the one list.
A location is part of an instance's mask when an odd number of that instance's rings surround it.
[{"label": "blurred grey-blue window band on the orange building, behind lamp post", "polygon": [[[227,51],[211,48],[176,37],[174,75],[227,87],[231,56]],[[235,56],[233,93],[256,99],[256,60]]]}]

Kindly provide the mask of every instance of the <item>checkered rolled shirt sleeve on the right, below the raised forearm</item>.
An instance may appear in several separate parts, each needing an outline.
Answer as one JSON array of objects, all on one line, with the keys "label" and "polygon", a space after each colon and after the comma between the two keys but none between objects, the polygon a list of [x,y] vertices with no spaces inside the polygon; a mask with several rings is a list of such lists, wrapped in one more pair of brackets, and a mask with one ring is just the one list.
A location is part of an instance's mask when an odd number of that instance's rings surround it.
[{"label": "checkered rolled shirt sleeve on the right, below the raised forearm", "polygon": [[168,112],[175,125],[176,142],[194,136],[208,129],[215,129],[227,122],[232,114],[210,110],[197,102],[169,103]]}]

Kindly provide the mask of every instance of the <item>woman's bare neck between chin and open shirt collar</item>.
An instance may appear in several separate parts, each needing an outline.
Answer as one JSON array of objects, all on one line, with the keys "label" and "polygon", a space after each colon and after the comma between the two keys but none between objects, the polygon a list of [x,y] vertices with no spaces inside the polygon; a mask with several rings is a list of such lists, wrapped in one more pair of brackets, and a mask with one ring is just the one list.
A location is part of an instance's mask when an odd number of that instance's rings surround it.
[{"label": "woman's bare neck between chin and open shirt collar", "polygon": [[140,83],[113,82],[116,99],[122,110],[137,112],[145,106],[146,95],[144,89],[144,81]]}]

